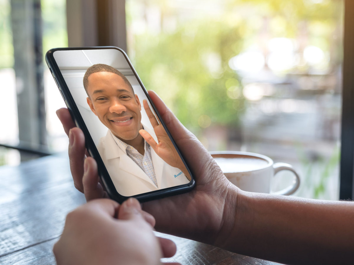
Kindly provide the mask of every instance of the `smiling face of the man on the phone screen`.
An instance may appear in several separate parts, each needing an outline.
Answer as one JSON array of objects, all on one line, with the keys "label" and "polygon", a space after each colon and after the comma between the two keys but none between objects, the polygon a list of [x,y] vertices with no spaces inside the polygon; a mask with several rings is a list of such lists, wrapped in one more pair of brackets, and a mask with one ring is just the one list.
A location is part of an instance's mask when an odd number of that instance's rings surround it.
[{"label": "smiling face of the man on the phone screen", "polygon": [[135,139],[142,129],[138,96],[115,73],[92,73],[88,81],[87,104],[92,112],[122,141]]}]

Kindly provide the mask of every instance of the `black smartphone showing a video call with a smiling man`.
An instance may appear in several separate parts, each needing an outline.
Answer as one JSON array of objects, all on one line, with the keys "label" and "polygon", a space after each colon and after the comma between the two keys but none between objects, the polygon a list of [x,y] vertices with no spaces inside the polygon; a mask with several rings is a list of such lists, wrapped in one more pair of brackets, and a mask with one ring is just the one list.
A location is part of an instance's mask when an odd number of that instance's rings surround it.
[{"label": "black smartphone showing a video call with a smiling man", "polygon": [[143,202],[193,189],[187,163],[122,49],[55,48],[45,58],[110,198]]}]

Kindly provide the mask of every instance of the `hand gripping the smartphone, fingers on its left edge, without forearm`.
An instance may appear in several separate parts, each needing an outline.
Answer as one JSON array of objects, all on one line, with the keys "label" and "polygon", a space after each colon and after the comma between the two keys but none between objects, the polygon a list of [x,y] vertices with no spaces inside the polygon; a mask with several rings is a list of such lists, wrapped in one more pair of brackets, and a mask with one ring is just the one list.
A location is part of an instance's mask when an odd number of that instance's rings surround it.
[{"label": "hand gripping the smartphone, fingers on its left edge, without forearm", "polygon": [[[196,187],[191,192],[178,196],[144,202],[143,210],[155,217],[155,229],[159,232],[213,244],[220,237],[221,225],[227,228],[229,222],[233,222],[225,219],[223,214],[224,207],[229,209],[235,207],[237,197],[230,198],[230,195],[237,188],[229,184],[209,152],[178,121],[159,96],[151,90],[148,93],[181,153],[184,154],[188,164],[193,165],[191,169],[196,176]],[[69,149],[69,158],[76,188],[85,193],[87,201],[102,198],[105,193],[98,183],[97,164],[94,159],[86,158],[85,163],[89,170],[84,174],[86,151],[84,134],[79,128],[73,127],[67,109],[62,108],[57,114],[64,130],[69,132],[72,129],[74,135],[75,140]]]}]

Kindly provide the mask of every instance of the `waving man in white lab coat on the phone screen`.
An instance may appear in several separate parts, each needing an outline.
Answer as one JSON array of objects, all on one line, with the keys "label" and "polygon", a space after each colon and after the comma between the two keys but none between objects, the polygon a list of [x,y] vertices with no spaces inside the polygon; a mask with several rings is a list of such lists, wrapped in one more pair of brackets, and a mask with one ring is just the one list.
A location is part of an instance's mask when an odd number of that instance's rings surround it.
[{"label": "waving man in white lab coat on the phone screen", "polygon": [[141,123],[141,103],[121,72],[105,64],[92,65],[85,73],[84,88],[87,104],[108,128],[97,149],[121,195],[189,182],[187,169],[146,100],[144,109],[154,131]]}]

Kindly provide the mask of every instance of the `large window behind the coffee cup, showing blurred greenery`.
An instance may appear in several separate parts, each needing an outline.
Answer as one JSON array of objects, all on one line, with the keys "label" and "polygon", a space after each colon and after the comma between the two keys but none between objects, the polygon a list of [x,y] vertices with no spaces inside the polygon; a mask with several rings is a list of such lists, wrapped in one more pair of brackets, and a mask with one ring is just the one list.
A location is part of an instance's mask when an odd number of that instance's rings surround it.
[{"label": "large window behind the coffee cup, showing blurred greenery", "polygon": [[343,1],[127,0],[126,12],[143,83],[209,151],[290,163],[298,196],[338,199]]}]

